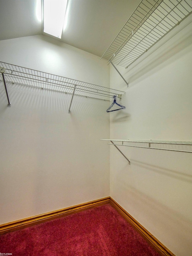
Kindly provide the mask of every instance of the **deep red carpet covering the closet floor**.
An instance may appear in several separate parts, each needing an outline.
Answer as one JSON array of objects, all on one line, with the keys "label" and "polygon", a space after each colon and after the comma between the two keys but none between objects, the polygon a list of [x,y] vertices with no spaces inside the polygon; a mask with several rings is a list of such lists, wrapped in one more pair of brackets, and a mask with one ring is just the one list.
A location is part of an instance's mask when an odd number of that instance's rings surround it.
[{"label": "deep red carpet covering the closet floor", "polygon": [[0,236],[13,256],[159,256],[110,204]]}]

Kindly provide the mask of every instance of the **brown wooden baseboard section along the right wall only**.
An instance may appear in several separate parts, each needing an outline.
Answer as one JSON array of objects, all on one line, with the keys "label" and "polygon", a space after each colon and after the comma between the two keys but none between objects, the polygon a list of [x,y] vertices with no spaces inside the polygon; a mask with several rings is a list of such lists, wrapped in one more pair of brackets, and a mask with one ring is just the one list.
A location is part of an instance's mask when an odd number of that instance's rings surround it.
[{"label": "brown wooden baseboard section along the right wall only", "polygon": [[126,212],[115,200],[110,197],[110,204],[113,206],[126,221],[128,221],[138,233],[161,255],[175,256],[167,247],[165,247],[155,236],[146,230],[136,219]]}]

